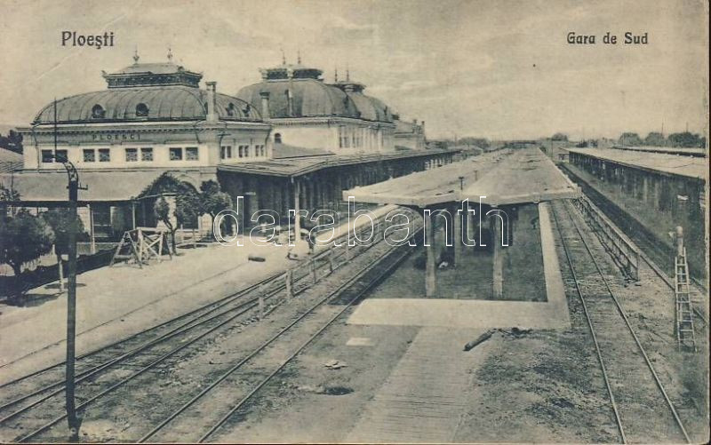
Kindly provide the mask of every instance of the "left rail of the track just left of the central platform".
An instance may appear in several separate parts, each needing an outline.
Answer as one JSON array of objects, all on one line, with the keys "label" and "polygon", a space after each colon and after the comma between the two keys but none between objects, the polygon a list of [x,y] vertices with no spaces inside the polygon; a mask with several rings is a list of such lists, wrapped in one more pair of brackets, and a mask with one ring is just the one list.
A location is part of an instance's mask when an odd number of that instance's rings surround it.
[{"label": "left rail of the track just left of the central platform", "polygon": [[[373,245],[378,244],[379,241],[376,241],[375,243],[371,244],[368,246],[368,249],[370,249]],[[376,262],[375,265],[379,264],[379,262]],[[222,381],[224,381],[226,378],[231,376],[232,374],[235,373],[236,370],[239,370],[244,366],[245,363],[249,362],[252,360],[254,356],[257,354],[260,354],[264,349],[266,349],[269,345],[274,343],[278,338],[281,338],[285,332],[288,330],[291,330],[293,326],[295,326],[298,322],[306,318],[308,315],[312,314],[318,307],[323,306],[325,303],[328,301],[331,301],[332,298],[337,295],[340,291],[346,289],[349,285],[352,283],[356,282],[359,278],[362,277],[363,274],[367,273],[370,271],[375,265],[371,264],[370,266],[364,267],[358,274],[352,276],[351,278],[348,279],[347,282],[344,282],[338,288],[333,290],[332,292],[329,292],[329,294],[325,298],[319,299],[314,306],[311,306],[308,308],[307,311],[305,311],[303,314],[301,314],[298,318],[296,318],[294,321],[289,323],[287,326],[285,326],[282,330],[279,330],[273,337],[269,338],[266,342],[262,343],[260,346],[255,348],[252,353],[247,354],[244,359],[241,361],[237,362],[234,366],[232,366],[230,369],[225,371],[220,377],[218,377],[216,380],[214,380],[210,385],[207,385],[204,387],[204,389],[200,392],[197,393],[192,399],[189,401],[185,402],[179,409],[175,410],[172,412],[172,414],[166,418],[164,418],[163,421],[161,421],[158,425],[156,425],[151,431],[148,433],[144,434],[137,443],[143,443],[145,441],[148,441],[151,437],[156,435],[156,433],[160,432],[165,425],[168,425],[170,422],[172,422],[173,419],[176,417],[180,416],[181,413],[183,413],[186,409],[190,408],[193,406],[196,401],[200,400],[201,398],[204,397],[205,394],[209,393],[214,389],[216,386],[220,385]]]}]

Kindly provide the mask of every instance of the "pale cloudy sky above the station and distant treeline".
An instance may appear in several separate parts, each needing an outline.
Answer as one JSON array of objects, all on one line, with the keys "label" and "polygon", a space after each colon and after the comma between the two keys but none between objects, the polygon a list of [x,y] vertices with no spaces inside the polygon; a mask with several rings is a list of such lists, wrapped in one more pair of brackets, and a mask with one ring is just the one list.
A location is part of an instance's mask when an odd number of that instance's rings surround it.
[{"label": "pale cloudy sky above the station and distant treeline", "polygon": [[[491,139],[707,133],[704,0],[0,0],[0,123],[27,125],[62,98],[106,88],[101,71],[173,61],[236,94],[259,68],[295,63],[367,85],[427,137]],[[114,47],[61,45],[113,31]],[[649,44],[603,44],[606,32]],[[568,44],[569,32],[595,44]]]}]

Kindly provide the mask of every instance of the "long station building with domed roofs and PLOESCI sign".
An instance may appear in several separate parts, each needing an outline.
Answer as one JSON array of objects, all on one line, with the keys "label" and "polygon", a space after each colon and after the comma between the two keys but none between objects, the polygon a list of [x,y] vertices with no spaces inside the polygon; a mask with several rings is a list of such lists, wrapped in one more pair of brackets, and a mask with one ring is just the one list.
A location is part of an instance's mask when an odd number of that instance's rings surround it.
[{"label": "long station building with domed roofs and PLOESCI sign", "polygon": [[[103,72],[107,88],[57,99],[20,129],[23,166],[2,175],[22,205],[64,205],[76,166],[79,214],[92,238],[155,226],[145,196],[168,174],[199,189],[217,180],[244,211],[338,208],[342,190],[451,163],[456,150],[425,149],[423,125],[399,123],[364,85],[326,83],[323,72],[283,63],[236,95],[168,60]],[[408,129],[409,127],[409,129]],[[398,132],[398,128],[400,129]],[[400,141],[398,146],[395,140]],[[242,209],[240,209],[242,211]],[[244,218],[247,225],[254,222]],[[196,221],[196,226],[201,225]]]}]

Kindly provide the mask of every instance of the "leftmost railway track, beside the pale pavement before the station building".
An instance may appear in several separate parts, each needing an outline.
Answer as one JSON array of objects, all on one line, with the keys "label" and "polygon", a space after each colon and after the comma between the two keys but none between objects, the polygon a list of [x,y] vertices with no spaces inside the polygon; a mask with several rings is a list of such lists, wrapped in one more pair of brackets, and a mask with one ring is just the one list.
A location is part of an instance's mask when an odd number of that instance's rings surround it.
[{"label": "leftmost railway track, beside the pale pavement before the station building", "polygon": [[[331,274],[333,270],[344,264],[342,261],[336,262],[339,258],[343,256],[356,258],[370,250],[373,245],[351,248],[348,251],[342,249],[336,254],[327,250],[316,255],[311,266],[296,268],[297,272],[293,276],[293,294],[299,295],[320,279],[319,277]],[[298,272],[299,268],[302,269],[301,273]],[[327,270],[324,272],[324,269]],[[176,360],[180,354],[186,354],[190,346],[195,346],[201,340],[211,338],[212,335],[228,329],[229,326],[239,322],[240,317],[254,314],[255,309],[260,306],[260,296],[263,303],[271,299],[279,299],[278,295],[286,287],[281,277],[282,274],[272,275],[210,305],[82,355],[77,362],[77,401],[80,401],[77,410],[86,409],[88,405],[113,393],[134,378]],[[6,394],[4,401],[0,402],[2,403],[0,426],[26,429],[28,424],[36,424],[37,417],[44,422],[47,420],[47,413],[62,412],[61,395],[64,393],[64,381],[60,375],[62,367],[63,362],[60,362],[0,386]],[[122,375],[126,370],[132,370],[127,377]],[[99,379],[108,384],[103,383],[97,388]],[[85,390],[90,393],[81,391],[82,384],[92,386]],[[14,410],[11,411],[13,408]],[[33,415],[35,417],[31,417]],[[64,418],[64,415],[54,417],[16,440],[31,440],[53,425],[57,425]]]}]

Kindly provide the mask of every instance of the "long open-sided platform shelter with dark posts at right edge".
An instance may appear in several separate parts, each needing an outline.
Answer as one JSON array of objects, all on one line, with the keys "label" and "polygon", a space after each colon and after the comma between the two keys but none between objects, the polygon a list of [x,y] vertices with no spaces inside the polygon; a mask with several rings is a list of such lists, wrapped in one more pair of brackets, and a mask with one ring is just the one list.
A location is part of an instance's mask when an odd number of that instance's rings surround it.
[{"label": "long open-sided platform shelter with dark posts at right edge", "polygon": [[[685,150],[690,150],[688,155]],[[707,158],[698,149],[672,153],[620,148],[571,148],[571,176],[589,187],[619,226],[647,243],[654,258],[673,268],[675,248],[669,236],[682,226],[691,275],[706,274],[704,220]],[[645,241],[646,240],[646,241]],[[671,266],[669,266],[671,265]]]}]

